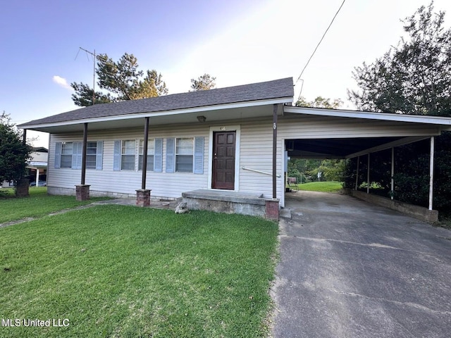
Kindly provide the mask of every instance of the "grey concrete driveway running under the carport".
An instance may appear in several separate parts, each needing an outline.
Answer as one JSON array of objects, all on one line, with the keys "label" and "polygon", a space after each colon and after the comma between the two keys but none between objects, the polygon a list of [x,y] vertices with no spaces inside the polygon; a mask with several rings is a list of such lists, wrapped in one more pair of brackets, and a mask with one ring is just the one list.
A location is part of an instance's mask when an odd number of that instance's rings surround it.
[{"label": "grey concrete driveway running under the carport", "polygon": [[274,337],[451,337],[451,231],[350,196],[288,195]]}]

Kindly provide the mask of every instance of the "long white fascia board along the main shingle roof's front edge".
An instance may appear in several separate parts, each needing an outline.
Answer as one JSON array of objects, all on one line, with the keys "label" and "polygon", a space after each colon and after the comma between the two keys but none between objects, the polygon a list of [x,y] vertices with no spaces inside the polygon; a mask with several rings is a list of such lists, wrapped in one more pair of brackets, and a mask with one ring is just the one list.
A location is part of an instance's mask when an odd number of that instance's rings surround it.
[{"label": "long white fascia board along the main shingle roof's front edge", "polygon": [[[203,111],[220,111],[223,109],[233,109],[233,108],[246,108],[252,106],[266,106],[268,104],[285,104],[287,102],[292,102],[292,97],[284,97],[280,99],[268,99],[261,101],[247,101],[247,102],[239,102],[236,104],[221,104],[217,106],[203,106],[196,108],[186,108],[186,109],[175,109],[173,111],[156,111],[150,113],[130,113],[125,115],[113,115],[113,116],[104,116],[101,118],[85,118],[81,120],[73,120],[73,121],[63,121],[56,123],[42,123],[39,125],[27,125],[25,129],[32,130],[33,128],[42,128],[42,127],[60,127],[63,125],[80,125],[82,123],[96,123],[96,122],[105,122],[105,121],[115,121],[115,120],[130,120],[135,118],[154,118],[157,116],[166,116],[166,115],[181,115],[187,113],[201,113]],[[18,125],[21,128],[20,125]]]}]

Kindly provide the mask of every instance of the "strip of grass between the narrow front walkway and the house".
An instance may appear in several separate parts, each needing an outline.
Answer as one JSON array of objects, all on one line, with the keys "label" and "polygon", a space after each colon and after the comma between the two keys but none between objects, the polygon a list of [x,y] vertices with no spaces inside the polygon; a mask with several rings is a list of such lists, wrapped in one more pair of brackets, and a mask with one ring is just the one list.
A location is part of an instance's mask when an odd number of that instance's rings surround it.
[{"label": "strip of grass between the narrow front walkway and the house", "polygon": [[0,223],[28,217],[40,217],[65,208],[75,208],[106,199],[94,197],[89,201],[77,201],[75,196],[47,195],[47,187],[30,187],[30,197],[17,199],[14,189],[4,189],[0,198]]}]

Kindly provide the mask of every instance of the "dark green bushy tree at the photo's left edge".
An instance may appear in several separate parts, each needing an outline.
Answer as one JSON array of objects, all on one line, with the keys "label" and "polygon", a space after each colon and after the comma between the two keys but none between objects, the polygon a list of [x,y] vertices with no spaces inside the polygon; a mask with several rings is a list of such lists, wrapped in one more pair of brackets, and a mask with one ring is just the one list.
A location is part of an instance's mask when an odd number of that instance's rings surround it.
[{"label": "dark green bushy tree at the photo's left edge", "polygon": [[31,146],[23,144],[22,133],[5,112],[0,115],[0,184],[17,181],[25,174]]}]

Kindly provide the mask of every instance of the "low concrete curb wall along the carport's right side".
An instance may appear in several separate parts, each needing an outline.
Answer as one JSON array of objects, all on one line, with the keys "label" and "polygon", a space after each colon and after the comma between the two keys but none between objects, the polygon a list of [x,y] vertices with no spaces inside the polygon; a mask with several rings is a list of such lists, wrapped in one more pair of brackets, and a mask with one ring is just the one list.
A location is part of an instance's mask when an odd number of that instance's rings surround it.
[{"label": "low concrete curb wall along the carport's right side", "polygon": [[378,206],[400,211],[400,213],[404,213],[424,222],[434,223],[438,221],[438,211],[436,210],[429,210],[423,206],[414,206],[413,204],[395,201],[382,196],[366,194],[365,192],[356,190],[350,190],[349,192],[352,196],[357,197],[357,199],[363,199],[364,201],[368,201]]}]

